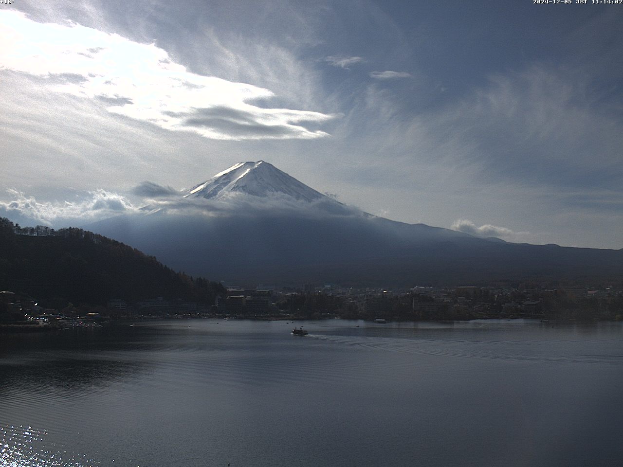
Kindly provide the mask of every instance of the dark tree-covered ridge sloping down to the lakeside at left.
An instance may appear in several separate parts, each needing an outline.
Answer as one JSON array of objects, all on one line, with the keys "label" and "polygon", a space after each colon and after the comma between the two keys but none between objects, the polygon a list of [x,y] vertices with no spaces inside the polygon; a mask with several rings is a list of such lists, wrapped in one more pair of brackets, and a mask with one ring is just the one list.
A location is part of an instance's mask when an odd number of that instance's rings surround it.
[{"label": "dark tree-covered ridge sloping down to the lakeside at left", "polygon": [[155,296],[211,304],[225,293],[218,283],[173,271],[102,235],[20,227],[6,218],[0,218],[0,290],[19,291],[52,307]]}]

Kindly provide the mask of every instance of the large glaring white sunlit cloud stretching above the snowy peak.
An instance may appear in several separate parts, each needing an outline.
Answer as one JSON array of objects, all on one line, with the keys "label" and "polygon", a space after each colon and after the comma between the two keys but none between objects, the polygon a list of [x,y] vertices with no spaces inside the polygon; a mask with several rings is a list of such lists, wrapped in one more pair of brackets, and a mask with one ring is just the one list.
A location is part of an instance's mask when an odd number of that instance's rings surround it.
[{"label": "large glaring white sunlit cloud stretching above the snowy peak", "polygon": [[315,111],[261,108],[265,88],[191,73],[155,44],[79,24],[41,24],[0,11],[0,68],[46,78],[50,91],[97,99],[107,110],[167,130],[214,139],[312,139],[333,118]]}]

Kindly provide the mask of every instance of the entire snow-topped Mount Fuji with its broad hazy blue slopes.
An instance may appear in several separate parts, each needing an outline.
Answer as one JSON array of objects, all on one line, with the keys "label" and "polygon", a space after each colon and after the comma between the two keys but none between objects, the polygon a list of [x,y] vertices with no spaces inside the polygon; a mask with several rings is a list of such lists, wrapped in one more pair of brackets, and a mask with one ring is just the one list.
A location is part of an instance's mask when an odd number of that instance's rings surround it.
[{"label": "entire snow-topped Mount Fuji with its broad hazy blue slopes", "polygon": [[176,270],[254,285],[620,280],[623,250],[508,243],[341,204],[264,161],[235,164],[143,214],[90,230]]}]

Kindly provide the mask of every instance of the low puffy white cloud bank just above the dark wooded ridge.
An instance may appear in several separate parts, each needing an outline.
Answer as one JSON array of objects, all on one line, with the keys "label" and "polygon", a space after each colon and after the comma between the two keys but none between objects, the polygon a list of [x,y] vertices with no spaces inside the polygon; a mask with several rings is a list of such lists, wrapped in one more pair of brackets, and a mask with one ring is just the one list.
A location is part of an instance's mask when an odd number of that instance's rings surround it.
[{"label": "low puffy white cloud bank just above the dark wooded ridge", "polygon": [[[130,200],[117,193],[97,189],[88,192],[88,196],[76,202],[39,202],[32,196],[7,190],[12,199],[0,201],[0,213],[11,219],[26,219],[33,222],[67,227],[65,222],[94,222],[121,213],[138,212]],[[22,221],[24,222],[24,221]]]}]

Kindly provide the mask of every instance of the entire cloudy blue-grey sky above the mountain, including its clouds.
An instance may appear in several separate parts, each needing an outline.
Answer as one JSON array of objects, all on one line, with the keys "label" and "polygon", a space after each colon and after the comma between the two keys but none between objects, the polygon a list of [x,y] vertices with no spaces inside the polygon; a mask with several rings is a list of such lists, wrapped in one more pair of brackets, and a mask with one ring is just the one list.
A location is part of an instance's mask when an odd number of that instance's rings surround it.
[{"label": "entire cloudy blue-grey sky above the mountain, including its clouds", "polygon": [[622,25],[533,0],[2,4],[0,215],[98,219],[263,159],[393,220],[623,248]]}]

